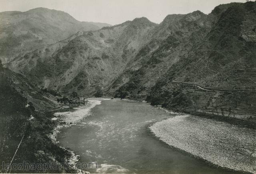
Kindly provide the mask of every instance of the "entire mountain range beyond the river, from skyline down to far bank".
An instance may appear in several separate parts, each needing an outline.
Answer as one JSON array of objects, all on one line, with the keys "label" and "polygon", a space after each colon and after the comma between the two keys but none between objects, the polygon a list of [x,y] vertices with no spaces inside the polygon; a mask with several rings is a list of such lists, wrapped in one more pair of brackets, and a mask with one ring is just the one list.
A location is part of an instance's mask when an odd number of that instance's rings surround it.
[{"label": "entire mountain range beyond the river, from skyline down to far bank", "polygon": [[[38,87],[85,96],[100,87],[178,110],[232,107],[253,114],[255,16],[256,2],[220,5],[208,15],[172,14],[160,24],[136,18],[116,26],[78,22],[45,8],[2,12],[0,56]],[[173,82],[245,92],[212,93]]]}]

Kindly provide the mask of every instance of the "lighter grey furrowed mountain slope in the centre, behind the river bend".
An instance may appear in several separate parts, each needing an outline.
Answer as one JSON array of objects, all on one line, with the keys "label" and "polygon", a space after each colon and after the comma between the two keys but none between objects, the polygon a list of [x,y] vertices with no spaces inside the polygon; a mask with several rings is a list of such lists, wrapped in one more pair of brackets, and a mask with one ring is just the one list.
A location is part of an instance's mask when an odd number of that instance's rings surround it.
[{"label": "lighter grey furrowed mountain slope in the centre, behind the river bend", "polygon": [[156,24],[136,18],[75,35],[36,49],[8,64],[13,71],[49,89],[87,93],[105,87],[149,39]]}]

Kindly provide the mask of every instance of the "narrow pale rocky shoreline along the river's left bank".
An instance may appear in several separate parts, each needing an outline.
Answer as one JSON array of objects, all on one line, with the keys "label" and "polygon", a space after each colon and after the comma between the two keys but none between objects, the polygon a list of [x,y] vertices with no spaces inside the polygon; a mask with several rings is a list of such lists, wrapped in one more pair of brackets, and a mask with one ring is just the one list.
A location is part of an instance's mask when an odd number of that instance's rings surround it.
[{"label": "narrow pale rocky shoreline along the river's left bank", "polygon": [[[104,100],[104,99],[103,99]],[[61,131],[61,129],[71,127],[72,125],[75,125],[81,119],[87,117],[90,115],[90,111],[92,108],[94,108],[96,105],[101,104],[101,99],[99,98],[94,99],[94,98],[89,98],[88,103],[83,106],[79,106],[77,108],[74,108],[74,111],[68,111],[68,112],[57,112],[54,113],[53,115],[55,116],[53,119],[56,120],[56,127],[52,130],[52,134],[48,134],[48,137],[52,140],[54,144],[58,144],[60,148],[63,148],[67,152],[70,153],[70,158],[65,158],[65,161],[68,165],[71,166],[72,170],[75,170],[76,173],[89,173],[84,170],[81,170],[77,168],[76,164],[80,161],[80,156],[76,155],[74,151],[69,150],[65,147],[60,146],[60,142],[57,140],[58,133]]]}]

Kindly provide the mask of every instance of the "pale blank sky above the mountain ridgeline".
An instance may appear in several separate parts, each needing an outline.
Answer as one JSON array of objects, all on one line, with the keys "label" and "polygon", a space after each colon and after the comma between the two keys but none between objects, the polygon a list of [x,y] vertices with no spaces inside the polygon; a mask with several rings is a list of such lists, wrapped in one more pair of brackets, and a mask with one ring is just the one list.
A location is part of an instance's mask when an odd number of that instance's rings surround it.
[{"label": "pale blank sky above the mountain ridgeline", "polygon": [[168,14],[196,10],[208,14],[215,6],[246,0],[0,0],[0,12],[25,12],[37,7],[67,12],[76,20],[120,24],[138,17],[160,23]]}]

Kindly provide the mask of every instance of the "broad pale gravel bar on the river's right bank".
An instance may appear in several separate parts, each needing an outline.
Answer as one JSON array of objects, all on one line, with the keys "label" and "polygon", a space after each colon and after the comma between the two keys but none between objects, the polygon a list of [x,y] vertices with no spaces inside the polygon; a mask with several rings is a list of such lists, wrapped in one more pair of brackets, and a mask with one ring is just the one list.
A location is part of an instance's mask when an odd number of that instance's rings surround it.
[{"label": "broad pale gravel bar on the river's right bank", "polygon": [[163,142],[214,165],[256,173],[256,131],[191,115],[154,123],[150,130]]}]

